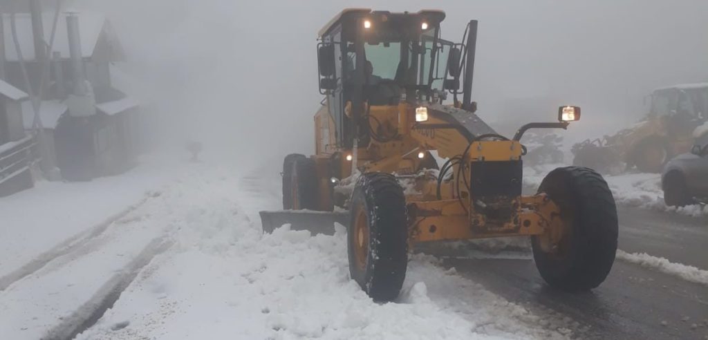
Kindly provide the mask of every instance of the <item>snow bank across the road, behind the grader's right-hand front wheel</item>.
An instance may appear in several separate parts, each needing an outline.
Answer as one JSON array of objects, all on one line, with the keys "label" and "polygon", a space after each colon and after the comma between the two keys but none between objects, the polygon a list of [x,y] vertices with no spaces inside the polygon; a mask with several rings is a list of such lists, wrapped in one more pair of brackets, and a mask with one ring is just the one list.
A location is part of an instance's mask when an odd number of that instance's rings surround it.
[{"label": "snow bank across the road, behind the grader's right-hand front wheel", "polygon": [[[543,164],[527,166],[524,169],[524,186],[535,191],[543,181],[544,176],[553,169],[564,164]],[[617,205],[628,207],[675,212],[692,217],[708,216],[708,205],[688,205],[685,207],[669,207],[663,202],[661,189],[661,174],[621,174],[603,176],[610,186],[612,196]]]}]

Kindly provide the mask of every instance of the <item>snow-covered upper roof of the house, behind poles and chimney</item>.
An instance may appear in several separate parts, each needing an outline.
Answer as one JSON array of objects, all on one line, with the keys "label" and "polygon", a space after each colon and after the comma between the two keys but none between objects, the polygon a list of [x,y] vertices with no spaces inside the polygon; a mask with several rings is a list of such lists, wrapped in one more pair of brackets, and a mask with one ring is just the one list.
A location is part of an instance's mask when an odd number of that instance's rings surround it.
[{"label": "snow-covered upper roof of the house, behind poles and chimney", "polygon": [[[79,16],[79,30],[81,38],[81,55],[85,58],[93,56],[98,38],[101,36],[105,17],[101,13],[81,12]],[[3,13],[5,33],[5,57],[9,62],[18,61],[15,42],[12,38],[10,14]],[[20,42],[22,56],[25,60],[35,59],[35,43],[32,36],[32,20],[29,13],[16,13],[17,39]],[[42,13],[42,26],[47,44],[52,36],[54,13]],[[69,57],[69,38],[67,38],[67,13],[60,13],[57,20],[57,33],[55,35],[52,52],[60,52],[63,58]]]}]

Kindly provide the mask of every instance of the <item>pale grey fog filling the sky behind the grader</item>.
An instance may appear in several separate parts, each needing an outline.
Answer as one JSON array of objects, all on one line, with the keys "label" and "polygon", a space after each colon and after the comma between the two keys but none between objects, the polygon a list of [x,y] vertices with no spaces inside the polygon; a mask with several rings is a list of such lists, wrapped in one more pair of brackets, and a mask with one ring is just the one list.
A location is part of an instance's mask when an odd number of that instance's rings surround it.
[{"label": "pale grey fog filling the sky behind the grader", "polygon": [[[48,6],[53,6],[50,1]],[[159,140],[200,140],[231,159],[313,152],[319,106],[316,33],[341,8],[436,7],[442,37],[479,20],[473,98],[490,123],[504,101],[545,97],[582,106],[569,140],[612,132],[646,113],[652,89],[708,80],[708,1],[74,0],[108,15],[135,79],[159,117]],[[152,105],[150,105],[152,104]],[[555,107],[547,118],[554,119]]]}]

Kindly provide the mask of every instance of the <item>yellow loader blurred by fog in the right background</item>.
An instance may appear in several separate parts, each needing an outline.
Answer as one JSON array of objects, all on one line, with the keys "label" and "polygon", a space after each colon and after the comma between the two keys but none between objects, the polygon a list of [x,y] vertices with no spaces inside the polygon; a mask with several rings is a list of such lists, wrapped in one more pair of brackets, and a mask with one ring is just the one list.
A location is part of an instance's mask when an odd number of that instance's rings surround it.
[{"label": "yellow loader blurred by fog in the right background", "polygon": [[694,136],[695,130],[707,120],[708,83],[656,89],[649,114],[639,123],[615,135],[573,145],[573,165],[605,174],[634,166],[642,172],[659,172],[669,159],[690,150],[700,137]]}]

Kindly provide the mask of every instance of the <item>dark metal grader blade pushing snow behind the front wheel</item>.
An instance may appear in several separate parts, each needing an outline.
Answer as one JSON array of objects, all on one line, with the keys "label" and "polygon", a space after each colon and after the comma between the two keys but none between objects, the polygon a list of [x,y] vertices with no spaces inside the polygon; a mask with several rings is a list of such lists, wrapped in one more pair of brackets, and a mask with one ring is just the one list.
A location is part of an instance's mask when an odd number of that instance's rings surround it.
[{"label": "dark metal grader blade pushing snow behind the front wheel", "polygon": [[346,227],[349,223],[348,212],[329,212],[314,210],[279,210],[261,211],[261,225],[264,233],[272,233],[282,225],[290,224],[290,230],[308,230],[313,235],[334,234],[334,222]]}]

